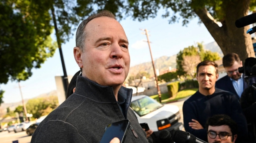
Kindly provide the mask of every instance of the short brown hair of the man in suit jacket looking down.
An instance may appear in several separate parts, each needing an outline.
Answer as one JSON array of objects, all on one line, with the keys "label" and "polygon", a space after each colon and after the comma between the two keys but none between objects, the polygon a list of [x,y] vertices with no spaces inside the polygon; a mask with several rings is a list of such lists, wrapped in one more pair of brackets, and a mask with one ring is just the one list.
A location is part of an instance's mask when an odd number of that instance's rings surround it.
[{"label": "short brown hair of the man in suit jacket looking down", "polygon": [[231,67],[235,61],[237,61],[240,64],[241,60],[240,60],[238,54],[236,54],[236,53],[226,54],[222,59],[223,67],[224,68]]}]

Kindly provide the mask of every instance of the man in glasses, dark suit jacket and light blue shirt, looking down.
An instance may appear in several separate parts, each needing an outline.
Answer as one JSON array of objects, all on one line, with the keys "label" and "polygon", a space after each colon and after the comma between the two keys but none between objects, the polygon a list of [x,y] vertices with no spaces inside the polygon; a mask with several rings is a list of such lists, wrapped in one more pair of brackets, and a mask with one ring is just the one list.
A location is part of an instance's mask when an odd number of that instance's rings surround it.
[{"label": "man in glasses, dark suit jacket and light blue shirt, looking down", "polygon": [[229,53],[223,57],[222,63],[227,75],[219,79],[215,87],[229,91],[240,99],[243,90],[247,87],[247,84],[242,78],[242,73],[238,72],[238,68],[242,67],[242,61],[238,54]]}]

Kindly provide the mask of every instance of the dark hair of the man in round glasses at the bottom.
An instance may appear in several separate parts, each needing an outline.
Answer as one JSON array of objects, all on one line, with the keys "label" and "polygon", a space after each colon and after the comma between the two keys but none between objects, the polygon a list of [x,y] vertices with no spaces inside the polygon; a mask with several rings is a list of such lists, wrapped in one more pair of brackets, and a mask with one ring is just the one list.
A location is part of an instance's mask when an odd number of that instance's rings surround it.
[{"label": "dark hair of the man in round glasses at the bottom", "polygon": [[232,141],[234,139],[234,135],[237,134],[237,123],[231,119],[228,115],[213,115],[212,117],[209,117],[206,121],[205,128],[208,131],[209,126],[222,126],[227,125],[229,126],[231,132],[232,132]]}]

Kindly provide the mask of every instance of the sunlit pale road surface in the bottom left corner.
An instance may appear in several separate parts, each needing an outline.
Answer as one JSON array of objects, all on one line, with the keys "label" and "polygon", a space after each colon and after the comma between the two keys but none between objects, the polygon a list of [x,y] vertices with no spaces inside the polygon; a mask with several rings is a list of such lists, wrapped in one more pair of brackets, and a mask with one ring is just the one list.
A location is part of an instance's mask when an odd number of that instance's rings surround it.
[{"label": "sunlit pale road surface in the bottom left corner", "polygon": [[32,136],[28,136],[25,131],[21,132],[0,132],[0,142],[1,143],[12,143],[14,140],[18,140],[19,143],[30,143]]}]

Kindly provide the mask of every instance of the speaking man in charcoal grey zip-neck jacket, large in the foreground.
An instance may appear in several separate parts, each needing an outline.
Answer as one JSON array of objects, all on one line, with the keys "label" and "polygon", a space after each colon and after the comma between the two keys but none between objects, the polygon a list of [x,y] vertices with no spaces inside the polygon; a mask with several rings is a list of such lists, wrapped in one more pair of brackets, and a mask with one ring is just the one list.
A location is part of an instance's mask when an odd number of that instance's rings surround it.
[{"label": "speaking man in charcoal grey zip-neck jacket, large in the foreground", "polygon": [[82,68],[75,92],[38,125],[31,143],[98,143],[107,125],[125,119],[130,121],[125,143],[147,143],[146,132],[129,107],[132,89],[122,86],[130,55],[127,36],[115,16],[101,11],[83,20],[73,54]]}]

